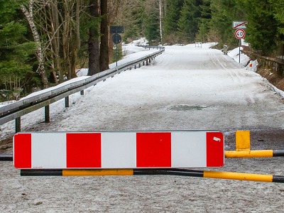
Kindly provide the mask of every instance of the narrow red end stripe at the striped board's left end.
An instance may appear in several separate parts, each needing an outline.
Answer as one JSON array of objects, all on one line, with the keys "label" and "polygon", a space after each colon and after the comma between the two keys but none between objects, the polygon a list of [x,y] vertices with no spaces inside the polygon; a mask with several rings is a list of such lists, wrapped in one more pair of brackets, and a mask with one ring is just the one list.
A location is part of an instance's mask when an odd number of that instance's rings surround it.
[{"label": "narrow red end stripe at the striped board's left end", "polygon": [[31,168],[31,133],[14,136],[13,165],[15,168]]}]

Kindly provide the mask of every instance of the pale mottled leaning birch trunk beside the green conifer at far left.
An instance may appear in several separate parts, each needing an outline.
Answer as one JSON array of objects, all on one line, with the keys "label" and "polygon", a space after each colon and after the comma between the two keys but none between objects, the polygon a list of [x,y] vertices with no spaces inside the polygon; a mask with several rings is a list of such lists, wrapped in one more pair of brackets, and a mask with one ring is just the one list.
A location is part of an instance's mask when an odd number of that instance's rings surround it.
[{"label": "pale mottled leaning birch trunk beside the green conifer at far left", "polygon": [[22,5],[21,11],[26,16],[28,24],[31,28],[31,32],[33,33],[33,40],[37,44],[36,58],[38,59],[38,73],[40,74],[41,81],[43,83],[43,88],[47,88],[48,87],[48,77],[46,76],[46,72],[45,72],[45,66],[44,66],[45,60],[43,56],[43,50],[40,44],[40,36],[38,35],[38,31],[35,27],[35,22],[33,21],[33,0],[29,1],[28,9],[26,9],[26,6]]}]

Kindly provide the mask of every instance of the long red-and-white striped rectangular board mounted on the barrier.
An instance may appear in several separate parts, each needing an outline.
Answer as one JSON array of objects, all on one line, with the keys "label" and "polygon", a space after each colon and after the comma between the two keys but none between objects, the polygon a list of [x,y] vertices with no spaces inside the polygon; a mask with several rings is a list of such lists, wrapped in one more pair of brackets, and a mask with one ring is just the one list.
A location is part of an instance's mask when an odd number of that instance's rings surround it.
[{"label": "long red-and-white striped rectangular board mounted on the barrier", "polygon": [[21,169],[219,168],[219,131],[17,133],[13,164]]}]

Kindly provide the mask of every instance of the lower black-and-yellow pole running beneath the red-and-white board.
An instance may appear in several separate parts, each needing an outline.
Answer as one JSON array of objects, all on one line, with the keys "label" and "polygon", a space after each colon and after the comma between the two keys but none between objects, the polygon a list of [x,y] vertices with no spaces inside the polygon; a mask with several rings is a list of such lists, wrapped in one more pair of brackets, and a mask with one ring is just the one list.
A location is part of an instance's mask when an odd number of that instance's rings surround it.
[{"label": "lower black-and-yellow pole running beneath the red-and-white board", "polygon": [[179,175],[197,178],[219,178],[257,182],[284,182],[284,176],[229,173],[187,169],[122,169],[122,170],[21,170],[21,176],[99,176],[99,175]]}]

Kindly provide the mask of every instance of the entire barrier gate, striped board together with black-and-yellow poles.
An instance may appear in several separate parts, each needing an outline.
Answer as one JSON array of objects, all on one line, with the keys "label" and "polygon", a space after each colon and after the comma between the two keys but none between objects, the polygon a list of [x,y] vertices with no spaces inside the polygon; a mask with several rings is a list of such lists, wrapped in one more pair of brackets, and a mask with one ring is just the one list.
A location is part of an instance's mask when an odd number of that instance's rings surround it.
[{"label": "entire barrier gate, striped board together with black-and-yellow poles", "polygon": [[224,158],[278,156],[284,151],[251,151],[249,131],[236,131],[236,151],[224,151],[220,131],[33,132],[13,137],[13,165],[23,176],[183,175],[284,182],[277,175],[192,170],[221,168]]}]

